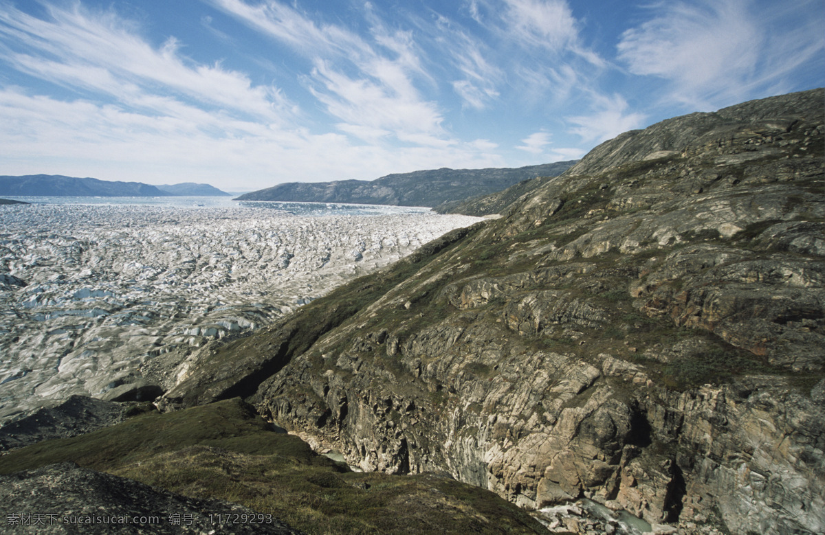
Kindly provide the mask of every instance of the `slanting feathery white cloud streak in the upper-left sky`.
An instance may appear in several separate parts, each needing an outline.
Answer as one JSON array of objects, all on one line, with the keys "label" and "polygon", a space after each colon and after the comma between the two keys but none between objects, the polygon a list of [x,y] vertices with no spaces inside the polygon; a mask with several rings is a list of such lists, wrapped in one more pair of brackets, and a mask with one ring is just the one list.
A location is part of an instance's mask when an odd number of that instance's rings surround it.
[{"label": "slanting feathery white cloud streak in the upper-left sky", "polygon": [[[0,49],[0,60],[46,82],[104,92],[132,104],[144,93],[162,91],[271,121],[294,110],[275,87],[253,86],[243,73],[187,59],[173,38],[153,48],[134,24],[114,12],[93,12],[80,4],[45,8],[48,20],[14,8],[0,12],[5,26],[0,40],[14,40]],[[21,47],[25,53],[16,51]]]}]

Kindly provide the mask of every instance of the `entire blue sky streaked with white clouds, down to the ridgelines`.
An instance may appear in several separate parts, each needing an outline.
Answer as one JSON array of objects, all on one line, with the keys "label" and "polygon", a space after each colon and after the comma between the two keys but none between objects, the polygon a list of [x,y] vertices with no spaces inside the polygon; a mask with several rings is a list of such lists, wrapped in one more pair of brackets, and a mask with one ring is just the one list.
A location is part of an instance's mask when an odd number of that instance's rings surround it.
[{"label": "entire blue sky streaked with white clouds, down to the ridgelines", "polygon": [[582,157],[822,87],[823,0],[0,0],[0,175],[257,190]]}]

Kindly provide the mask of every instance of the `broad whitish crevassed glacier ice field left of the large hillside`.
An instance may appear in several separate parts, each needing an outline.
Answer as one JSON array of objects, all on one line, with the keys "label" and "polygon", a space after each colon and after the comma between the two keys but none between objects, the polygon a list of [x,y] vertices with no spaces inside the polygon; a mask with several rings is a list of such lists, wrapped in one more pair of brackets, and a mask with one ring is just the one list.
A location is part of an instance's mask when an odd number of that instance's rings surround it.
[{"label": "broad whitish crevassed glacier ice field left of the large hillside", "polygon": [[72,394],[105,397],[163,354],[265,326],[479,220],[330,211],[2,207],[0,274],[26,286],[0,284],[0,423]]}]

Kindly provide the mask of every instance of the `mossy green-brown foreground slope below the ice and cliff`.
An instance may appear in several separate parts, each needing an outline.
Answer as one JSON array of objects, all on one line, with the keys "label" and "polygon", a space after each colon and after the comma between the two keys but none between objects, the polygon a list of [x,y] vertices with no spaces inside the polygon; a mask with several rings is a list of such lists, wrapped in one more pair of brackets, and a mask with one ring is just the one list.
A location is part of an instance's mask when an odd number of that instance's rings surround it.
[{"label": "mossy green-brown foreground slope below the ice and cliff", "polygon": [[0,473],[65,461],[243,504],[304,533],[542,533],[506,500],[448,477],[349,472],[238,399],[17,449]]}]

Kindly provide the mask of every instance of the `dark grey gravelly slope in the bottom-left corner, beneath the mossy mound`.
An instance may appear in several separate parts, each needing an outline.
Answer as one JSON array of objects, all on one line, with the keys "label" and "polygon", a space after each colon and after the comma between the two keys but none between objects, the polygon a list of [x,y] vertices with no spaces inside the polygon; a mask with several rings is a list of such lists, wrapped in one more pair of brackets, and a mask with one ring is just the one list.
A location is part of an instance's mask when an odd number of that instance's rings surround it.
[{"label": "dark grey gravelly slope in the bottom-left corner, beneath the mossy mound", "polygon": [[3,533],[299,533],[238,504],[200,500],[71,462],[0,476]]}]

